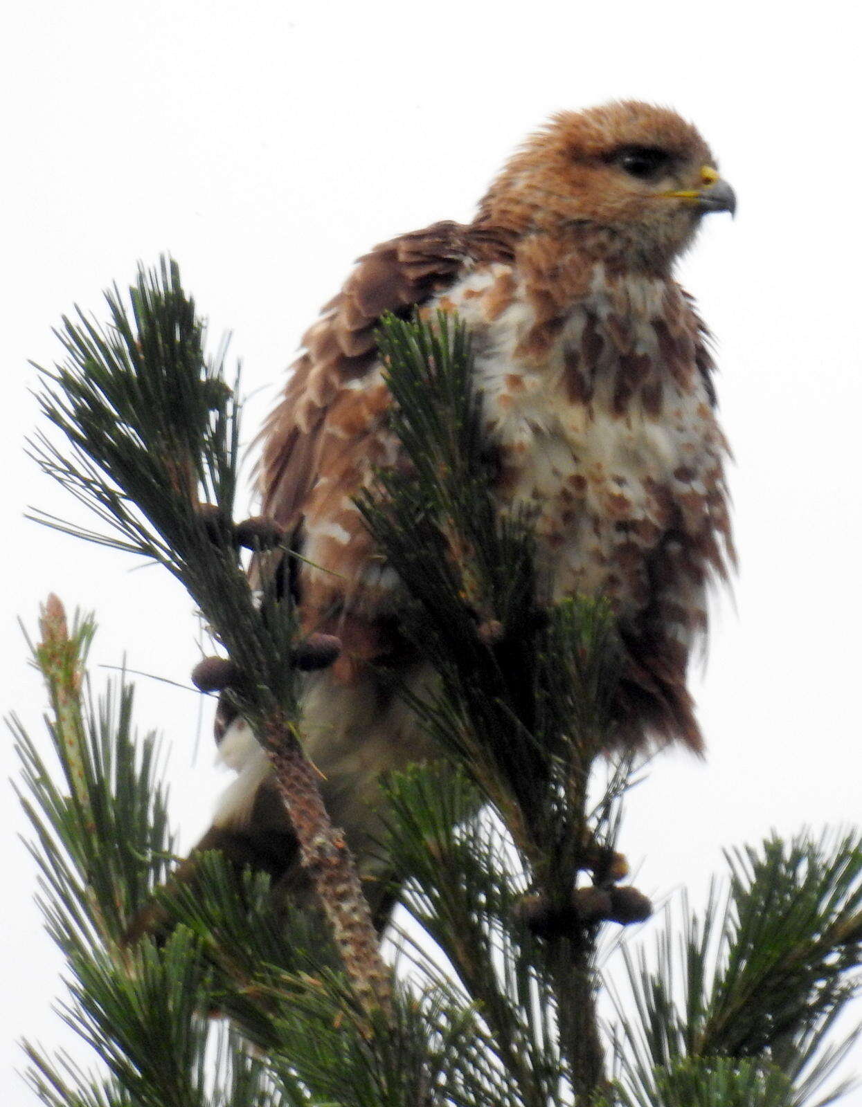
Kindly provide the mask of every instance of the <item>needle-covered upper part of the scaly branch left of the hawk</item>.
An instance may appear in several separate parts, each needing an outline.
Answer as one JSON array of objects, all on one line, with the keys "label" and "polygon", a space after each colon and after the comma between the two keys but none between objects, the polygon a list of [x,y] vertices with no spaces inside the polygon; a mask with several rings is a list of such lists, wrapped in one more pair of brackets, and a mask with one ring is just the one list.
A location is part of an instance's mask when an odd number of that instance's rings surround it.
[{"label": "needle-covered upper part of the scaly branch left of the hawk", "polygon": [[[58,529],[155,560],[188,590],[243,673],[232,692],[246,715],[296,716],[293,607],[270,581],[252,596],[232,541],[239,415],[224,348],[204,352],[205,328],[175,262],[138,270],[129,304],[105,296],[111,323],[63,319],[65,361],[40,369],[47,424],[31,454],[107,532],[35,513]],[[202,506],[203,505],[203,506]]]}]

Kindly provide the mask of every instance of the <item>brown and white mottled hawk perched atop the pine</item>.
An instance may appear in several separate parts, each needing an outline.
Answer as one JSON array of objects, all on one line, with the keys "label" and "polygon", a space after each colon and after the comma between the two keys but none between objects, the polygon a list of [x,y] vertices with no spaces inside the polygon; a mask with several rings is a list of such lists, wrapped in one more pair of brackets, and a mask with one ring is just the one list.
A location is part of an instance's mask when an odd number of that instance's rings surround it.
[{"label": "brown and white mottled hawk perched atop the pine", "polygon": [[[554,116],[505,164],[470,224],[435,223],[359,259],[304,338],[263,433],[264,513],[293,536],[304,627],[342,653],[305,677],[306,748],[366,876],[377,782],[428,751],[392,691],[428,673],[399,654],[399,581],[356,507],[399,463],[376,328],[456,312],[471,333],[501,511],[525,509],[554,600],[603,596],[625,646],[629,747],[702,738],[686,687],[707,587],[733,560],[709,335],[674,266],[701,217],[736,200],[689,123],[645,103]],[[296,883],[269,763],[242,718],[217,725],[237,772],[201,842]],[[382,904],[376,904],[384,918]]]}]

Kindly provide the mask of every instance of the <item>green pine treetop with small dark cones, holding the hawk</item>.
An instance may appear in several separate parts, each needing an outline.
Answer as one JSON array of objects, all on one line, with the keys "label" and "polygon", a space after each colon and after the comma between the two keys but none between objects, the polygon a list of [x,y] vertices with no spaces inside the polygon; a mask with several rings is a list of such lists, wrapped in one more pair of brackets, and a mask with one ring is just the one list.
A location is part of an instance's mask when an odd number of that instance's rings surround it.
[{"label": "green pine treetop with small dark cones, holding the hawk", "polygon": [[[33,659],[51,703],[48,753],[13,720],[48,931],[68,959],[66,1021],[99,1061],[84,1072],[27,1044],[29,1082],[60,1105],[339,1107],[576,1104],[802,1107],[855,1039],[835,1039],[862,960],[862,838],[772,838],[728,853],[706,910],[653,920],[616,852],[635,768],[605,754],[618,679],[601,602],[536,603],[527,519],[500,519],[470,389],[470,346],[445,317],[384,321],[380,342],[410,459],[360,507],[403,581],[406,633],[438,681],[410,699],[439,759],[381,784],[396,965],[301,748],[298,672],[329,663],[289,596],[248,549],[284,548],[234,523],[240,405],[224,355],[174,263],[141,270],[111,321],[64,319],[65,361],[42,371],[43,469],[98,516],[83,537],[156,561],[203,612],[219,687],[273,759],[326,920],[276,910],[268,880],[174,861],[156,738],[138,738],[125,676],[94,695],[91,617],[55,597]],[[60,432],[59,434],[57,432]],[[60,529],[79,532],[57,520]],[[288,555],[289,556],[289,555]],[[404,691],[408,696],[408,692]],[[167,883],[166,883],[167,881]],[[168,937],[130,944],[152,903]],[[680,918],[677,923],[676,919]],[[634,928],[636,929],[636,928]],[[625,984],[608,989],[599,938],[616,930]],[[649,932],[647,932],[649,933]],[[224,1017],[216,1017],[224,1016]],[[827,1090],[824,1090],[824,1088]]]}]

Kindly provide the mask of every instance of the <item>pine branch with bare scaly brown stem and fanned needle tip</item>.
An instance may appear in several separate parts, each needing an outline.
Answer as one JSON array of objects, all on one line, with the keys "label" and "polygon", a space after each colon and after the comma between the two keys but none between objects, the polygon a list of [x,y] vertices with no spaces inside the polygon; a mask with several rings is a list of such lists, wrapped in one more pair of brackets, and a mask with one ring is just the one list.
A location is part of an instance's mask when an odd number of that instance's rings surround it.
[{"label": "pine branch with bare scaly brown stem and fanned needle tip", "polygon": [[167,568],[204,612],[233,663],[229,694],[274,766],[348,972],[369,1010],[386,1007],[389,974],[371,913],[298,738],[293,606],[274,580],[256,603],[239,557],[232,523],[239,404],[224,381],[224,351],[207,362],[204,327],[174,262],[140,271],[131,317],[116,289],[106,299],[107,329],[80,313],[63,321],[68,359],[41,371],[40,403],[66,447],[40,435],[33,456],[110,526],[120,548]]}]

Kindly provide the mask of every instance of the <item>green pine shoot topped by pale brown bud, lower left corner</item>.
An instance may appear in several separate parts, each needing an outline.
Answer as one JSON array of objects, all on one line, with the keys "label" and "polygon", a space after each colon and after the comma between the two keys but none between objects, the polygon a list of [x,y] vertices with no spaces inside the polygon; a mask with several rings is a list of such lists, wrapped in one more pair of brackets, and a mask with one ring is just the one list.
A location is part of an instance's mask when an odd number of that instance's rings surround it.
[{"label": "green pine shoot topped by pale brown bud, lower left corner", "polygon": [[[58,608],[49,602],[44,641],[33,646],[53,708],[51,762],[18,720],[11,726],[34,831],[29,849],[40,872],[38,901],[72,976],[61,1014],[112,1076],[91,1076],[28,1045],[30,1084],[51,1105],[208,1104],[209,1030],[201,1013],[212,971],[199,944],[183,928],[162,950],[152,943],[129,950],[122,942],[172,857],[158,745],[153,735],[135,734],[125,679],[91,701],[84,662],[93,622],[76,619],[66,634]],[[240,1055],[234,1049],[233,1056],[235,1063]],[[229,1067],[224,1087],[234,1079]]]}]

